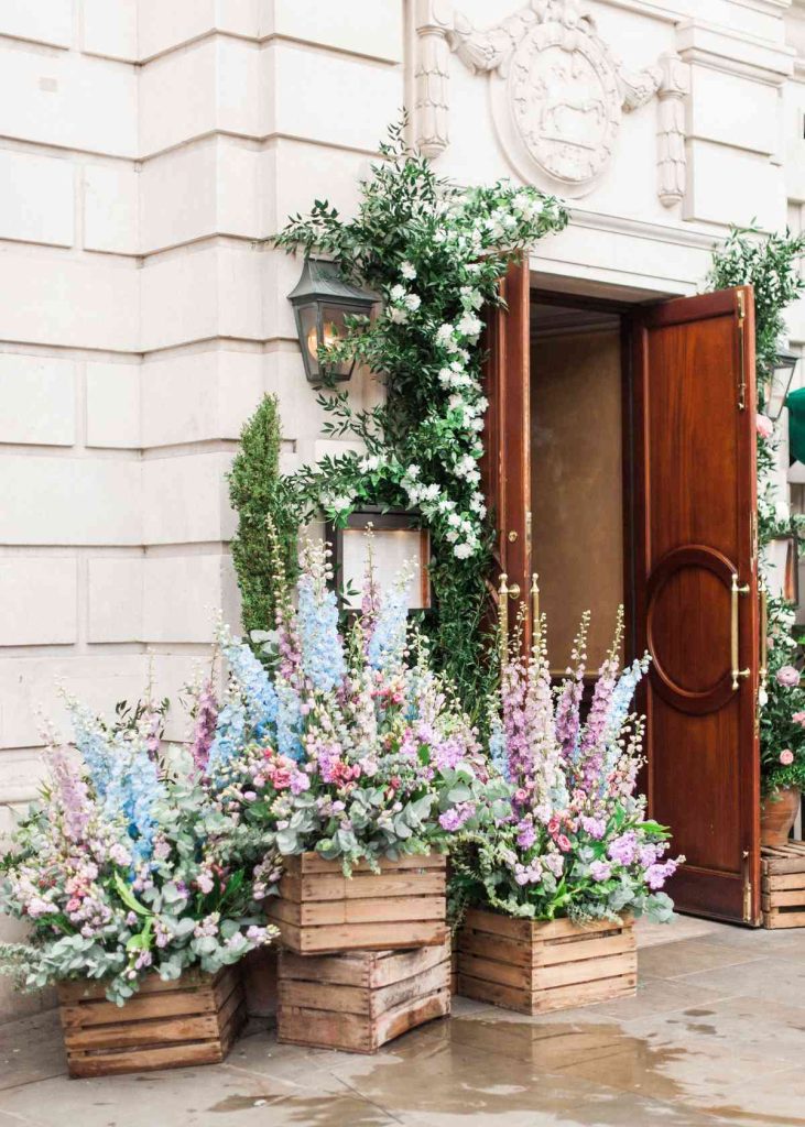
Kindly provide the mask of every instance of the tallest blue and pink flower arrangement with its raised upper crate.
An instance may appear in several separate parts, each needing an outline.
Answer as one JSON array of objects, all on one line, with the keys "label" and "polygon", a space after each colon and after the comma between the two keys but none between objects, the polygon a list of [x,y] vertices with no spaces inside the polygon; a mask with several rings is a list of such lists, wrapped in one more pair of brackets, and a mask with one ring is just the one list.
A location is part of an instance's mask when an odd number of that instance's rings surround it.
[{"label": "tallest blue and pink flower arrangement with its raised upper crate", "polygon": [[424,640],[408,641],[408,576],[383,595],[370,553],[346,637],[331,578],[329,549],[308,545],[266,664],[222,637],[228,696],[196,757],[245,837],[264,843],[255,887],[286,946],[439,943],[439,854],[478,825],[486,762]]}]

